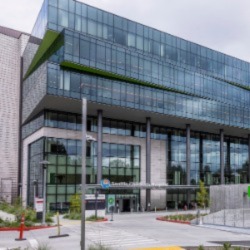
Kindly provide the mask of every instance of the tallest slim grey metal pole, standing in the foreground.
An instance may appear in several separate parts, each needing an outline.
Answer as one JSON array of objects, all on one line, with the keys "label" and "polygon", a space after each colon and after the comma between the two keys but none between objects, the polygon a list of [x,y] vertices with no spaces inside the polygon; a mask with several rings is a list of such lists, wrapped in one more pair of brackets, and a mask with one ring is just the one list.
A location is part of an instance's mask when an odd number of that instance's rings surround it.
[{"label": "tallest slim grey metal pole, standing in the foreground", "polygon": [[87,135],[87,100],[82,98],[82,221],[81,221],[81,250],[85,250],[85,194],[86,194],[86,142],[95,141]]}]

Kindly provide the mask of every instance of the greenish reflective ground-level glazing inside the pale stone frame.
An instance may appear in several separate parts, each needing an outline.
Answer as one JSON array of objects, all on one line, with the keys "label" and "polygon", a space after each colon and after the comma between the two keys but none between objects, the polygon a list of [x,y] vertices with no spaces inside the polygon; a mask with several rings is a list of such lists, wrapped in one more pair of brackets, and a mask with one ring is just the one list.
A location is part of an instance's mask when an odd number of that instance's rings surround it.
[{"label": "greenish reflective ground-level glazing inside the pale stone frame", "polygon": [[[81,141],[43,138],[29,149],[29,201],[33,203],[32,181],[38,180],[38,196],[42,196],[43,159],[47,168],[47,208],[50,211],[69,209],[70,197],[79,192],[81,184]],[[44,153],[43,153],[44,152]],[[95,184],[97,174],[97,143],[88,142],[86,150],[86,183]],[[140,147],[103,143],[103,177],[111,182],[140,182]],[[126,193],[126,192],[121,192]],[[137,192],[136,192],[137,193]]]}]

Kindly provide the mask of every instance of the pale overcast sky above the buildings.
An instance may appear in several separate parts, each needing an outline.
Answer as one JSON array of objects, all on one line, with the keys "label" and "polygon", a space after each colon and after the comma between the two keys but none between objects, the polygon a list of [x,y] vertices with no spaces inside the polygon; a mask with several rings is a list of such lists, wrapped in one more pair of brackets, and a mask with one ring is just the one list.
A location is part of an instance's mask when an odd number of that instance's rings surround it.
[{"label": "pale overcast sky above the buildings", "polygon": [[[30,33],[42,2],[1,0],[0,25]],[[250,0],[81,2],[250,62]]]}]

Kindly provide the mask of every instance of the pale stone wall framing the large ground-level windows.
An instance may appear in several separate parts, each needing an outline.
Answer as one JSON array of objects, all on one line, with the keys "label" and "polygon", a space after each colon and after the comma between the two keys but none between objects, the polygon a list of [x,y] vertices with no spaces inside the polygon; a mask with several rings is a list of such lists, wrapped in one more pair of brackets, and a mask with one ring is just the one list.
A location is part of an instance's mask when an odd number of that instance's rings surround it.
[{"label": "pale stone wall framing the large ground-level windows", "polygon": [[[90,133],[95,139],[96,133]],[[41,137],[54,137],[64,139],[77,139],[81,140],[80,131],[64,130],[57,128],[41,128],[31,136],[23,141],[23,202],[26,204],[27,200],[27,176],[28,176],[28,146],[30,143],[38,140]],[[103,142],[139,145],[141,147],[141,182],[146,182],[146,139],[132,136],[119,136],[103,134]],[[166,142],[160,140],[151,140],[151,183],[166,183]],[[141,191],[141,206],[146,207],[145,190]],[[165,209],[166,207],[166,191],[153,190],[151,191],[151,209],[155,207],[158,209]]]}]

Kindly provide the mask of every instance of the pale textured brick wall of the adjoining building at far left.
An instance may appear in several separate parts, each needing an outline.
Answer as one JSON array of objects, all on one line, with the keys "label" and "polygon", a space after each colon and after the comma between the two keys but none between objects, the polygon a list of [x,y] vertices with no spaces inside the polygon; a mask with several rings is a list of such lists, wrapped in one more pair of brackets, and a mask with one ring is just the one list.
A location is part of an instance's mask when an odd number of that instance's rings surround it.
[{"label": "pale textured brick wall of the adjoining building at far left", "polygon": [[18,192],[20,62],[27,40],[0,34],[0,196],[8,201]]}]

